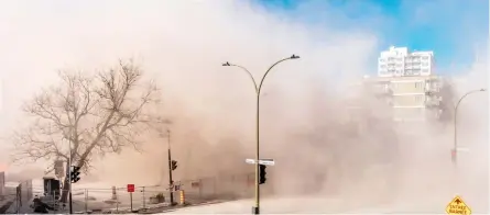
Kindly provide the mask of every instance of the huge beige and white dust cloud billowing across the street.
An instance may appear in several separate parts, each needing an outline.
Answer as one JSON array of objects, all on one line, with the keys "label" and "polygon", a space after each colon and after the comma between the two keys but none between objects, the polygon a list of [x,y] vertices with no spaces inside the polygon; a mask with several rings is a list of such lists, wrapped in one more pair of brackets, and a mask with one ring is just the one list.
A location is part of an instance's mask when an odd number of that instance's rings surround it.
[{"label": "huge beige and white dust cloud billowing across the street", "polygon": [[[4,80],[8,90],[20,80],[25,88],[6,98],[10,104],[3,104],[3,118],[10,124],[21,117],[15,115],[20,99],[53,82],[56,69],[102,68],[119,57],[132,57],[162,89],[159,113],[172,121],[162,131],[171,131],[173,159],[178,161],[174,180],[253,172],[244,163],[254,157],[253,84],[239,68],[221,64],[244,66],[259,81],[269,66],[295,54],[301,58],[274,67],[262,90],[261,157],[276,160],[268,168],[268,191],[347,196],[352,204],[439,197],[445,205],[455,192],[469,193],[468,201],[488,202],[482,193],[488,191],[488,95],[472,94],[461,103],[458,140],[470,151],[460,156],[464,173],[455,172],[451,123],[398,126],[386,106],[351,88],[375,69],[380,41],[374,32],[330,27],[329,22],[305,24],[249,1],[54,1],[18,7],[24,13],[11,15],[15,27],[9,30],[23,44],[7,45],[21,52],[7,57],[12,59],[8,68],[17,73]],[[326,16],[348,23],[335,13]],[[21,60],[26,64],[18,66]],[[451,83],[456,95],[484,88],[484,69],[486,63],[479,61],[461,72]],[[28,76],[37,78],[21,79]],[[351,100],[366,111],[349,124],[346,102],[351,91],[359,93]],[[143,152],[128,149],[99,159],[84,180],[165,184],[167,134],[150,131],[144,138]],[[399,163],[390,168],[383,165],[385,157]]]}]

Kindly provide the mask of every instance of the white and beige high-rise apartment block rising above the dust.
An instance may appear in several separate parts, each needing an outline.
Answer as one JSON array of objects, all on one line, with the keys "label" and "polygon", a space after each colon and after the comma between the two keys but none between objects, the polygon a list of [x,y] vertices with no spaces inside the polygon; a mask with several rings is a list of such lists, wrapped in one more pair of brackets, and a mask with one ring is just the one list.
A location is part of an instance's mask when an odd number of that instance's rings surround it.
[{"label": "white and beige high-rise apartment block rising above the dust", "polygon": [[384,101],[396,122],[439,121],[450,112],[451,92],[435,73],[433,52],[392,46],[380,54],[378,76],[363,78],[362,91]]}]

